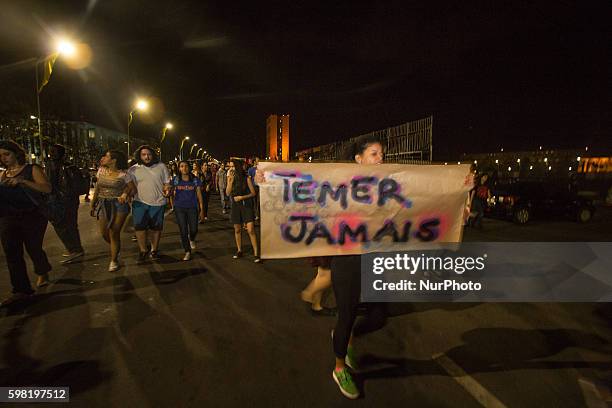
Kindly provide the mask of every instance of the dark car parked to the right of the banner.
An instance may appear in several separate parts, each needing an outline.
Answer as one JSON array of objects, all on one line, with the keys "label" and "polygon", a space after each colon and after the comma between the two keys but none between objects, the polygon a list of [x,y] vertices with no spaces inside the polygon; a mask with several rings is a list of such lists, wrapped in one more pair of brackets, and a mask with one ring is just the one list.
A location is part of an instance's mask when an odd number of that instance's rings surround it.
[{"label": "dark car parked to the right of the banner", "polygon": [[526,224],[532,219],[569,218],[589,222],[595,207],[568,185],[550,182],[516,182],[491,189],[487,214]]}]

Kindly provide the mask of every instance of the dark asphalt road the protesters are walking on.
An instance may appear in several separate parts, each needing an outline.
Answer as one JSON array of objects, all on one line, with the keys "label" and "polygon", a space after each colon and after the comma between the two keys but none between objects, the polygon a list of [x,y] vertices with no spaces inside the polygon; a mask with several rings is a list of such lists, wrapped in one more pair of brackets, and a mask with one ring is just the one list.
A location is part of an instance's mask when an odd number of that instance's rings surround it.
[{"label": "dark asphalt road the protesters are walking on", "polygon": [[[86,208],[82,262],[59,264],[49,227],[54,283],[0,310],[0,385],[69,386],[84,407],[580,407],[610,398],[611,304],[420,303],[390,306],[387,325],[357,339],[363,396],[349,401],[331,378],[335,319],[312,317],[299,300],[313,268],[233,260],[216,197],[211,213],[192,261],[181,261],[169,216],[162,260],[136,265],[125,234],[124,267],[113,274]],[[465,239],[602,241],[610,231],[604,216],[586,226],[487,219]],[[2,293],[5,265],[2,254]]]}]

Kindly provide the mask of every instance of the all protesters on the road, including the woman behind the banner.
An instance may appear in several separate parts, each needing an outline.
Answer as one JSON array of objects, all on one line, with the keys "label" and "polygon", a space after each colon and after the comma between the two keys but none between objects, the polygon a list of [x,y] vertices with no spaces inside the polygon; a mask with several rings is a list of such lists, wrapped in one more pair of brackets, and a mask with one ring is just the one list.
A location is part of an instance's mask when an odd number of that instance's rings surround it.
[{"label": "all protesters on the road, including the woman behind the banner", "polygon": [[[375,139],[356,141],[349,156],[357,164],[380,164],[383,148]],[[32,296],[26,270],[24,249],[34,264],[38,276],[36,285],[50,283],[52,267],[43,249],[43,239],[50,222],[66,249],[63,263],[83,257],[85,250],[78,229],[79,196],[85,195],[84,185],[89,179],[74,165],[66,162],[66,150],[55,145],[44,169],[28,164],[24,149],[11,141],[0,141],[0,160],[4,171],[0,173],[0,238],[6,254],[12,295],[2,302],[9,305]],[[208,219],[209,200],[218,192],[221,211],[233,225],[236,252],[234,259],[244,256],[243,231],[249,237],[253,250],[252,260],[260,263],[259,243],[255,222],[259,217],[257,161],[232,158],[221,163],[177,161],[164,164],[154,148],[140,146],[134,153],[134,162],[128,162],[125,153],[107,151],[100,159],[95,175],[95,187],[90,202],[90,215],[98,222],[100,235],[109,244],[109,272],[121,268],[121,231],[131,215],[138,242],[137,262],[160,259],[159,243],[164,229],[166,213],[174,213],[180,231],[180,245],[184,261],[192,259],[197,248],[199,223]],[[251,164],[251,166],[249,166]],[[475,211],[478,203],[486,200],[486,178],[480,180],[474,191]],[[88,190],[88,188],[86,189]],[[480,200],[480,201],[479,201]],[[474,217],[480,225],[481,216]],[[351,399],[359,396],[351,372],[357,368],[353,348],[354,330],[360,306],[360,256],[318,257],[310,260],[317,269],[316,276],[302,291],[301,298],[310,304],[316,316],[335,316],[332,331],[335,368],[332,378],[341,393]],[[322,305],[323,293],[333,290],[337,308]],[[368,305],[367,316],[380,326],[385,310],[380,304]]]}]

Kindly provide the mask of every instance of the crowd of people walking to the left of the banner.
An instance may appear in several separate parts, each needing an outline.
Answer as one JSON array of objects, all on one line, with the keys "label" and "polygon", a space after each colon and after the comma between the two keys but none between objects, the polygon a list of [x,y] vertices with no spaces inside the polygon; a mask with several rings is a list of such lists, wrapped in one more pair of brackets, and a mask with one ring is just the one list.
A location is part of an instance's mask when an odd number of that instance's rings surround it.
[{"label": "crowd of people walking to the left of the banner", "polygon": [[62,264],[85,255],[78,223],[81,196],[85,196],[90,215],[96,218],[100,235],[109,245],[109,272],[121,268],[121,232],[126,224],[133,228],[138,243],[137,263],[160,259],[167,210],[174,213],[179,227],[183,260],[191,260],[197,247],[198,224],[208,220],[213,192],[219,193],[223,214],[230,212],[236,242],[234,258],[243,256],[244,229],[253,248],[253,261],[261,262],[254,225],[257,190],[254,170],[249,171],[246,160],[165,164],[154,148],[144,145],[130,161],[122,151],[108,150],[92,175],[67,161],[64,146],[51,145],[48,153],[44,165],[29,164],[22,146],[0,141],[0,238],[13,287],[2,306],[34,293],[24,250],[34,264],[36,286],[50,283],[52,267],[43,249],[48,224],[65,248]]}]

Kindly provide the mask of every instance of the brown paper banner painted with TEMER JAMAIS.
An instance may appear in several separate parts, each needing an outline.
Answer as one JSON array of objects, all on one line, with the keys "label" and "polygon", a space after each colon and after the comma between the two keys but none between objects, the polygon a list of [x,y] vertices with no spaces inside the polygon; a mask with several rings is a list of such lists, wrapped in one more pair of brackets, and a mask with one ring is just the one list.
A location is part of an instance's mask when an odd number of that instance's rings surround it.
[{"label": "brown paper banner painted with TEMER JAMAIS", "polygon": [[262,258],[460,242],[469,165],[260,162]]}]

